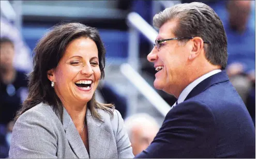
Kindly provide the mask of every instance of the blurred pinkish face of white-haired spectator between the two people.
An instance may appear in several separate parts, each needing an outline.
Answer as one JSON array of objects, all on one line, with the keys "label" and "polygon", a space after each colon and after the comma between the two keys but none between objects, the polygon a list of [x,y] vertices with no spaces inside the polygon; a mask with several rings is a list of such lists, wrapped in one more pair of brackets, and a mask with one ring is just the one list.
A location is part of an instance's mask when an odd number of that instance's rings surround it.
[{"label": "blurred pinkish face of white-haired spectator between the two people", "polygon": [[149,125],[134,126],[132,129],[131,147],[135,155],[145,150],[153,141],[158,128]]}]

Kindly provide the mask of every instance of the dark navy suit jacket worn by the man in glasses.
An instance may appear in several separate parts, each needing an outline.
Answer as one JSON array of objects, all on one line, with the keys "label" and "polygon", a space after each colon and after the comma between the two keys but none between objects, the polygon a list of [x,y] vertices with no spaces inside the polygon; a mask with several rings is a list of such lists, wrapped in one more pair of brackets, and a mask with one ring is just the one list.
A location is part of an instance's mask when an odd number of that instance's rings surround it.
[{"label": "dark navy suit jacket worn by the man in glasses", "polygon": [[136,158],[255,158],[255,128],[225,71],[206,78],[173,107]]}]

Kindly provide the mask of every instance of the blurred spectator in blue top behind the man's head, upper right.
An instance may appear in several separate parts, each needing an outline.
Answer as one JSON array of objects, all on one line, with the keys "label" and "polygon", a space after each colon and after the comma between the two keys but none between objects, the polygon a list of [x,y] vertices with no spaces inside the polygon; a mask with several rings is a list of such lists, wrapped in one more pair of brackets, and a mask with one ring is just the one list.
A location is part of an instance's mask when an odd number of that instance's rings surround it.
[{"label": "blurred spectator in blue top behind the man's head, upper right", "polygon": [[229,21],[223,22],[228,37],[227,73],[245,101],[251,82],[255,83],[255,28],[249,25],[251,1],[229,1],[227,11]]}]

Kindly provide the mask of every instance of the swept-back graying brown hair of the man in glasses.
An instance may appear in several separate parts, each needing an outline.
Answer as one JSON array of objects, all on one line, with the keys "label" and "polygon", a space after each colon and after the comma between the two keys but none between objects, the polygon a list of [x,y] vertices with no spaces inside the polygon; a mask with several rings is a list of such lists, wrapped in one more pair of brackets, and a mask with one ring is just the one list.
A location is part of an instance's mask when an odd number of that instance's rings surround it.
[{"label": "swept-back graying brown hair of the man in glasses", "polygon": [[[223,24],[215,11],[206,4],[193,2],[177,4],[154,16],[153,25],[160,28],[168,21],[177,21],[173,30],[176,37],[201,37],[206,59],[213,65],[227,66],[227,36]],[[168,37],[174,38],[174,37]]]}]

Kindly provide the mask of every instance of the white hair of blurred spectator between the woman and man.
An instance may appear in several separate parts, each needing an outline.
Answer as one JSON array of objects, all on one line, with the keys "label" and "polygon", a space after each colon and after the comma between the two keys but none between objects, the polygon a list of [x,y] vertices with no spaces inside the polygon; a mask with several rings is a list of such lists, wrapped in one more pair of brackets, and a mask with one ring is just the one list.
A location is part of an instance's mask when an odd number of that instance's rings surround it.
[{"label": "white hair of blurred spectator between the woman and man", "polygon": [[138,114],[129,116],[128,118],[125,119],[124,125],[130,139],[132,137],[132,128],[134,126],[152,125],[152,126],[155,126],[156,129],[159,129],[159,125],[156,122],[156,120],[146,113],[138,113]]}]

